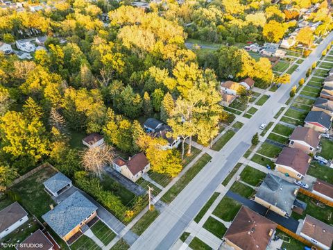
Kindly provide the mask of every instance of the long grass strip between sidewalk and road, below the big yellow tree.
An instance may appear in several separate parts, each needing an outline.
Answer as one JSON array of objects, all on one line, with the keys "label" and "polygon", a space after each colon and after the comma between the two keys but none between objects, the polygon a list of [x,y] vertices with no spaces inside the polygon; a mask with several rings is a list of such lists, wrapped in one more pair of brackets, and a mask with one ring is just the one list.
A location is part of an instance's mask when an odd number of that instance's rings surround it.
[{"label": "long grass strip between sidewalk and road, below the big yellow tree", "polygon": [[180,177],[180,179],[166,192],[162,201],[170,203],[177,195],[186,187],[186,185],[200,172],[203,167],[212,159],[210,155],[205,153],[201,158]]}]

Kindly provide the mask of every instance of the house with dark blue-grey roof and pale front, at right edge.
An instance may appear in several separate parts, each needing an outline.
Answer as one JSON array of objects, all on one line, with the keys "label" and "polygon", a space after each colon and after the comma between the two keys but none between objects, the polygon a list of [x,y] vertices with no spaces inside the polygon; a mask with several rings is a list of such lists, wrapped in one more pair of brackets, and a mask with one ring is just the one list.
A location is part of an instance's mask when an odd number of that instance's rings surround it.
[{"label": "house with dark blue-grey roof and pale front, at right edge", "polygon": [[332,117],[323,111],[310,111],[304,120],[304,126],[313,128],[320,133],[326,133],[330,130]]}]

